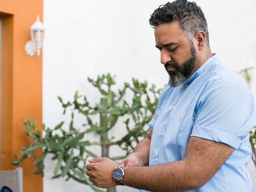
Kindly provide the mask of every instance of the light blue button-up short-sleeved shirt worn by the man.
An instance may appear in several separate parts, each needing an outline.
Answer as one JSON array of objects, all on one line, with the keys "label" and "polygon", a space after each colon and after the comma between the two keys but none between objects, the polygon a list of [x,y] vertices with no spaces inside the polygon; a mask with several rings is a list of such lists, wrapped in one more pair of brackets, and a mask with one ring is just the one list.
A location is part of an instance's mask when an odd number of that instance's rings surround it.
[{"label": "light blue button-up short-sleeved shirt worn by the man", "polygon": [[190,136],[222,142],[234,152],[202,188],[190,192],[252,192],[249,132],[255,120],[246,82],[214,54],[181,86],[165,86],[149,122],[149,165],[182,160]]}]

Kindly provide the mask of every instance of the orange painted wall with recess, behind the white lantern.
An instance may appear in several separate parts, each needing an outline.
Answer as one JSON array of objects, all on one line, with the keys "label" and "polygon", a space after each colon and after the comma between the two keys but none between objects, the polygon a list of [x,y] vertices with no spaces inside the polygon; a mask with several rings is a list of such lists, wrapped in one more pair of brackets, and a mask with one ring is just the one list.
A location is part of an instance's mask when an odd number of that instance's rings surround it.
[{"label": "orange painted wall with recess, behind the white lantern", "polygon": [[[42,50],[40,56],[29,58],[24,46],[30,40],[30,26],[36,15],[43,16],[43,0],[0,0],[2,17],[2,90],[1,90],[1,169],[15,169],[10,165],[31,140],[25,135],[22,119],[30,115],[42,124]],[[40,150],[36,155],[42,154]],[[20,156],[19,156],[20,157]],[[24,192],[42,192],[42,176],[34,175],[33,159],[23,168]]]}]

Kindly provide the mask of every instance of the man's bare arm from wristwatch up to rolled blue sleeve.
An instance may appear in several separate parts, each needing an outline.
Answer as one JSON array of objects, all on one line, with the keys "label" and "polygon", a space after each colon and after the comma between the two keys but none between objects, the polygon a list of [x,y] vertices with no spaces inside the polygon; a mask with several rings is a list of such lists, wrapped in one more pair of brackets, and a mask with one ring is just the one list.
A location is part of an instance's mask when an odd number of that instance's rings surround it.
[{"label": "man's bare arm from wristwatch up to rolled blue sleeve", "polygon": [[147,167],[126,166],[123,184],[150,191],[179,192],[204,186],[221,168],[234,148],[190,137],[183,160]]}]

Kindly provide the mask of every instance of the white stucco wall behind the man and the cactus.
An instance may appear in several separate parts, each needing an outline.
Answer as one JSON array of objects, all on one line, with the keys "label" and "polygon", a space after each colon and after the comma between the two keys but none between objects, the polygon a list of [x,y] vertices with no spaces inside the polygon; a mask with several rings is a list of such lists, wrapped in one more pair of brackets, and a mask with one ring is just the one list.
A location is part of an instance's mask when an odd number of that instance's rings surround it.
[{"label": "white stucco wall behind the man and the cactus", "polygon": [[[159,88],[168,82],[155,48],[150,14],[166,0],[44,0],[44,25],[47,30],[43,46],[43,122],[54,127],[70,116],[62,115],[57,96],[72,100],[74,92],[86,94],[91,103],[99,94],[87,77],[115,74],[117,86],[132,77],[147,80]],[[255,0],[195,0],[208,21],[210,46],[230,68],[250,70],[252,92],[256,96],[256,8]],[[239,5],[239,3],[243,3]],[[76,116],[76,126],[82,116]],[[68,123],[65,124],[68,126]],[[116,127],[110,134],[122,136]],[[90,139],[96,139],[92,134]],[[96,148],[96,153],[100,151]],[[111,149],[112,154],[118,150]],[[52,180],[54,164],[45,160],[44,191],[92,191],[89,187],[64,178]],[[252,170],[255,167],[252,166]],[[255,173],[254,173],[255,174]],[[119,187],[118,191],[137,191]]]}]

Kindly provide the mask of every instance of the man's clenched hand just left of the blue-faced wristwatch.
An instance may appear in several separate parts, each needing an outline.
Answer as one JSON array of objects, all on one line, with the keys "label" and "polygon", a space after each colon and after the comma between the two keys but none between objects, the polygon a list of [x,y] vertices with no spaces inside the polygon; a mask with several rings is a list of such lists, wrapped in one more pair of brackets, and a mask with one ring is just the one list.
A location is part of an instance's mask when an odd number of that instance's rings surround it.
[{"label": "man's clenched hand just left of the blue-faced wristwatch", "polygon": [[106,157],[97,157],[89,160],[86,165],[86,175],[89,180],[100,188],[111,188],[117,186],[112,178],[112,171],[118,163]]}]

